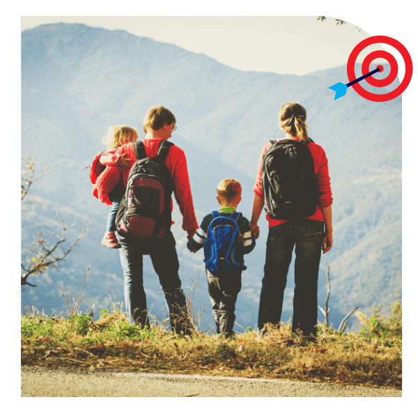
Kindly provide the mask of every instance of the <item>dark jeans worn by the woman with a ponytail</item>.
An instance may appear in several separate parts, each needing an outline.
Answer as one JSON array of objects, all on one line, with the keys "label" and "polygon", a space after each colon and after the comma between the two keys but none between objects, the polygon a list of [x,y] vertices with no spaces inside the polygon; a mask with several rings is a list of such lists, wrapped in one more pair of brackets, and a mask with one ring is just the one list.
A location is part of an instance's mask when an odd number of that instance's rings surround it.
[{"label": "dark jeans worn by the woman with a ponytail", "polygon": [[298,219],[270,228],[261,286],[258,329],[266,323],[279,325],[284,289],[295,248],[295,294],[292,331],[316,336],[318,271],[324,224],[312,219]]}]

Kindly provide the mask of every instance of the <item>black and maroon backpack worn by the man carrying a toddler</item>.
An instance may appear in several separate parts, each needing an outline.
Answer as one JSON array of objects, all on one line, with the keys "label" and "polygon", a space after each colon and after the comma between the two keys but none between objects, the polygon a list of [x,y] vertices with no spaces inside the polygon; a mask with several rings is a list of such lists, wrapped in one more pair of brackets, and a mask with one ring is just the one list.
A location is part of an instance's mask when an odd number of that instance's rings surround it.
[{"label": "black and maroon backpack worn by the man carrying a toddler", "polygon": [[116,229],[121,235],[163,238],[170,231],[173,187],[164,161],[171,145],[161,141],[156,157],[147,157],[143,142],[134,143],[137,161],[116,214]]}]

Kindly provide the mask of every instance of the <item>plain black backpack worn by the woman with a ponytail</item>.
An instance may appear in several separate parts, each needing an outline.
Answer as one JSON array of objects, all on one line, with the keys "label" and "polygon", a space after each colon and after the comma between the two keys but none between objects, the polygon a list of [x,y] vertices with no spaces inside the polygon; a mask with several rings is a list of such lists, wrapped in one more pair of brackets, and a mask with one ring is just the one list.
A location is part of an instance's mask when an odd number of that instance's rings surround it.
[{"label": "plain black backpack worn by the woman with a ponytail", "polygon": [[[309,141],[312,141],[309,138]],[[318,206],[314,159],[301,141],[270,141],[263,157],[262,185],[265,210],[272,219],[314,215]]]}]

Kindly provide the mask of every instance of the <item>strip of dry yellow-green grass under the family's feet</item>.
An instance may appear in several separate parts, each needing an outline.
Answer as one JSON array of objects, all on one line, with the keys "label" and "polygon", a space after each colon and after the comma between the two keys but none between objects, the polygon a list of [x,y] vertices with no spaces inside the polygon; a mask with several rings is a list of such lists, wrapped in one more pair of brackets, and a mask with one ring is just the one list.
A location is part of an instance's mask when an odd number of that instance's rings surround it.
[{"label": "strip of dry yellow-green grass under the family's feet", "polygon": [[291,325],[235,339],[196,332],[180,337],[157,323],[130,325],[120,309],[93,322],[88,314],[22,316],[22,364],[124,369],[159,373],[272,378],[401,389],[399,339],[342,334],[318,327],[318,342],[304,343]]}]

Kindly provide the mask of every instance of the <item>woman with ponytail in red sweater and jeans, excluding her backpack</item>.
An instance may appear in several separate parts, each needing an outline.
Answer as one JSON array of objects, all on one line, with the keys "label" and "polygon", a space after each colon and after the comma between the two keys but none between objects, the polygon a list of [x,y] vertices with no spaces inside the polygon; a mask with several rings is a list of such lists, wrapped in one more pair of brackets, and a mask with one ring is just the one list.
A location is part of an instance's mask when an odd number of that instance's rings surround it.
[{"label": "woman with ponytail in red sweater and jeans, excluding her backpack", "polygon": [[[332,192],[325,151],[308,137],[307,111],[299,103],[288,102],[279,111],[279,127],[286,138],[304,143],[314,160],[318,205],[313,215],[293,219],[272,219],[268,214],[269,233],[258,311],[258,329],[263,332],[270,323],[279,327],[284,290],[293,248],[295,248],[295,293],[293,297],[292,331],[301,330],[308,340],[316,339],[318,306],[318,271],[321,256],[332,248]],[[265,203],[263,194],[263,157],[272,146],[261,150],[258,162],[254,205],[250,228],[258,238],[258,219]],[[292,217],[291,217],[292,218]],[[325,228],[325,231],[324,231]]]}]

